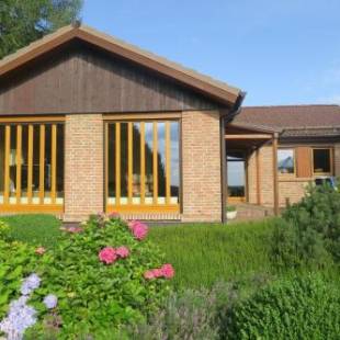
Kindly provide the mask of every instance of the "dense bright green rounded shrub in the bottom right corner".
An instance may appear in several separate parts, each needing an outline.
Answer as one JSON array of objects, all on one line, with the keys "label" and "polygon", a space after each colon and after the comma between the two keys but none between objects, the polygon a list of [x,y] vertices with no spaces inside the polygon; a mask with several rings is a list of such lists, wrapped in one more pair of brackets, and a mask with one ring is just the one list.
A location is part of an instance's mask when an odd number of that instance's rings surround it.
[{"label": "dense bright green rounded shrub in the bottom right corner", "polygon": [[320,275],[279,281],[231,308],[230,339],[339,339],[339,285]]}]

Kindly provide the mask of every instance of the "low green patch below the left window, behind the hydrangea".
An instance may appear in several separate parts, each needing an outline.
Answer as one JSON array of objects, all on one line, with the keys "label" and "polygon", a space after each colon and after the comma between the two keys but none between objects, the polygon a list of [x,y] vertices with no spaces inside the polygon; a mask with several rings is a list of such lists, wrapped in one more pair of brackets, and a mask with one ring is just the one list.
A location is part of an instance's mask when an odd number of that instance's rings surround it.
[{"label": "low green patch below the left window, behind the hydrangea", "polygon": [[34,246],[53,247],[60,235],[60,220],[52,215],[23,214],[1,216],[11,227],[11,236]]}]

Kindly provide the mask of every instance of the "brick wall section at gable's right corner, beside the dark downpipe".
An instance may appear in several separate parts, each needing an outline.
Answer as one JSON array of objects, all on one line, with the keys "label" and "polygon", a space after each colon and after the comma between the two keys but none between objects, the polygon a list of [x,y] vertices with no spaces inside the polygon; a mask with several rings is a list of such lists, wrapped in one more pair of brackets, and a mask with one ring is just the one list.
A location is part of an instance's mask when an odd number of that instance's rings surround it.
[{"label": "brick wall section at gable's right corner, beside the dark downpipe", "polygon": [[220,222],[220,143],[217,111],[183,112],[183,222]]}]

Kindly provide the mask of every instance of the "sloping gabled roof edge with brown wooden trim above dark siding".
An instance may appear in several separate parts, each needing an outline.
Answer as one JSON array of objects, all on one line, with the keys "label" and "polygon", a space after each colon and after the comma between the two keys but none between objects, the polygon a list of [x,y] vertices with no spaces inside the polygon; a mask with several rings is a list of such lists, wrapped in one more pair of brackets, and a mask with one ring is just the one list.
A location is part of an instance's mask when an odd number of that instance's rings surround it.
[{"label": "sloping gabled roof edge with brown wooden trim above dark siding", "polygon": [[234,105],[242,92],[91,27],[65,26],[0,60],[0,77],[72,39],[81,39],[173,79],[223,104]]}]

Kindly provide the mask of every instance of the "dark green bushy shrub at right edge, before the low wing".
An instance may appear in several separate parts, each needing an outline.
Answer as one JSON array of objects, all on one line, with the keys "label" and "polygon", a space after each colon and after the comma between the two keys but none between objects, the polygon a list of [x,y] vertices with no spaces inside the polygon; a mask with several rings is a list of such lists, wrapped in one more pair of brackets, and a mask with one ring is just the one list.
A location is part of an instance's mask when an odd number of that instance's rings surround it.
[{"label": "dark green bushy shrub at right edge, before the low wing", "polygon": [[280,265],[340,263],[340,192],[330,185],[309,186],[305,197],[283,213],[272,238]]}]

